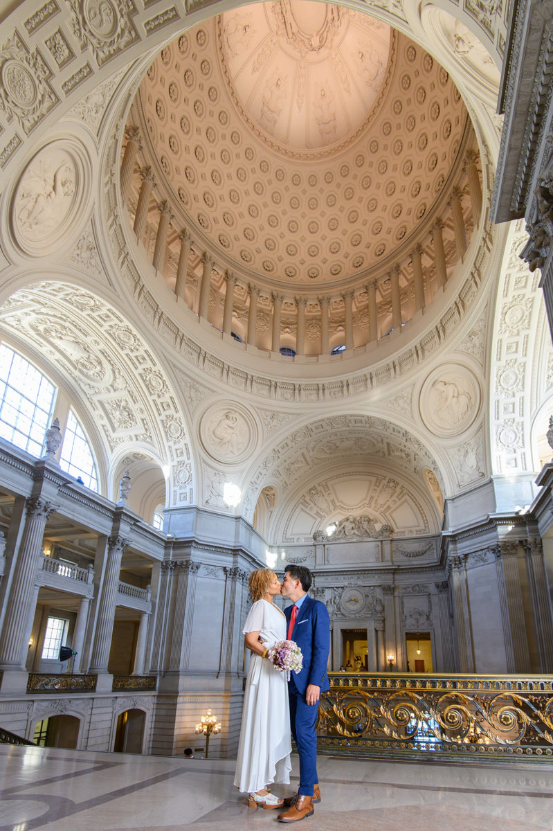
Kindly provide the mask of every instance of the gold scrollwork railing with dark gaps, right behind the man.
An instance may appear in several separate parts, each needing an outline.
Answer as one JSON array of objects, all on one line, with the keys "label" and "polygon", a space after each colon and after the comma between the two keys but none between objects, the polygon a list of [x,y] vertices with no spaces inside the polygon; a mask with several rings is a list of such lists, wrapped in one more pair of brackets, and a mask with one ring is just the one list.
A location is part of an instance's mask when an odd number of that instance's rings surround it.
[{"label": "gold scrollwork railing with dark gaps, right behind the man", "polygon": [[322,752],[389,757],[553,756],[553,677],[330,673]]}]

